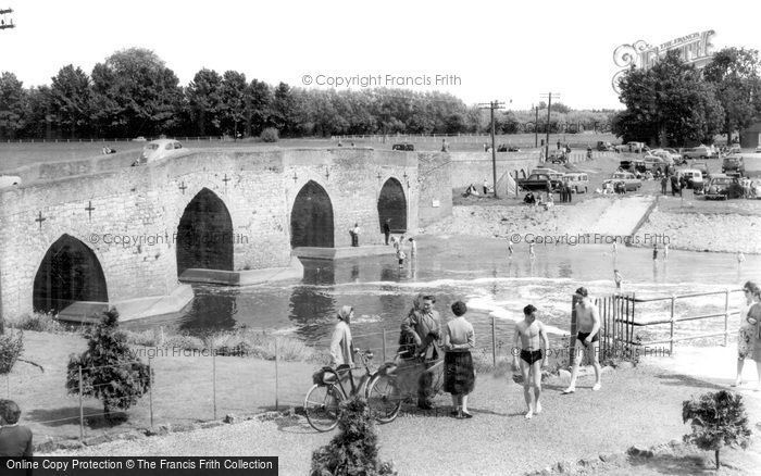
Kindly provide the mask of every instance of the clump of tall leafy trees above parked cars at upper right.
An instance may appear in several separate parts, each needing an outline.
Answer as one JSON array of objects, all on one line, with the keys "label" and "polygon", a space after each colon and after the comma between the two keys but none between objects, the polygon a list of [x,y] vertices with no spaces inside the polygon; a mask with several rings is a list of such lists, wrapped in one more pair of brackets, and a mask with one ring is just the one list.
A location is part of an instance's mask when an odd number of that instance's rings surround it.
[{"label": "clump of tall leafy trees above parked cars at upper right", "polygon": [[626,110],[612,117],[624,142],[712,143],[761,120],[761,62],[757,50],[725,48],[702,70],[670,51],[649,70],[627,71],[620,83]]}]

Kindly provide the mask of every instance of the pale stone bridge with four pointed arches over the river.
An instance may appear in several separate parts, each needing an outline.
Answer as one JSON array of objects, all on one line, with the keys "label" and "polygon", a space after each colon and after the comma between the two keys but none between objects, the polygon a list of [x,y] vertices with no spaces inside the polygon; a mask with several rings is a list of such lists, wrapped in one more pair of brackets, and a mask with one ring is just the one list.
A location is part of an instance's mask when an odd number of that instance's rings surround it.
[{"label": "pale stone bridge with four pointed arches over the river", "polygon": [[176,312],[192,299],[183,280],[301,277],[294,250],[349,247],[355,223],[362,246],[383,243],[389,218],[419,228],[409,152],[201,149],[102,168],[0,192],[2,316]]}]

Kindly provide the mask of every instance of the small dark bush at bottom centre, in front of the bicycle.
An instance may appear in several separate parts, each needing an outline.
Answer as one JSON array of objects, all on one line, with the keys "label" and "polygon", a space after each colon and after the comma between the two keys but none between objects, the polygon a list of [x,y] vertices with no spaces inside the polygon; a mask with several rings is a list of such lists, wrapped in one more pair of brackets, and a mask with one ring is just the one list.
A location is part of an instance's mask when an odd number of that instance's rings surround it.
[{"label": "small dark bush at bottom centre, in front of the bicycle", "polygon": [[358,396],[339,406],[338,435],[312,453],[312,476],[396,475],[394,464],[378,461],[377,435],[367,402]]}]

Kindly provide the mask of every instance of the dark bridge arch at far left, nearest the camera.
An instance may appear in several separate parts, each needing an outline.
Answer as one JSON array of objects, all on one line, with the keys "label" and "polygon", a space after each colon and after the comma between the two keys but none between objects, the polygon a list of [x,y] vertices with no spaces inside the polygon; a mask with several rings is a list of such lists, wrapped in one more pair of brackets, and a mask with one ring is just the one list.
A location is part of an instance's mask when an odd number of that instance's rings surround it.
[{"label": "dark bridge arch at far left, nearest the camera", "polygon": [[75,301],[109,302],[98,258],[68,235],[48,249],[35,275],[33,292],[35,312],[59,313]]}]

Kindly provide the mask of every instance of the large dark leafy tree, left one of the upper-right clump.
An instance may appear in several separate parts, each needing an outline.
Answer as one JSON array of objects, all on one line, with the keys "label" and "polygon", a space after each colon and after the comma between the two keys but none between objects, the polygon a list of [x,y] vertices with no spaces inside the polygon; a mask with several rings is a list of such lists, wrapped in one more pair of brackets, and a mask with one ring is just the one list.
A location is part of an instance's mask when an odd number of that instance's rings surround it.
[{"label": "large dark leafy tree, left one of the upper-right clump", "polygon": [[670,51],[650,70],[632,67],[620,84],[626,111],[617,114],[614,133],[625,141],[684,145],[712,141],[724,118],[712,85]]}]

